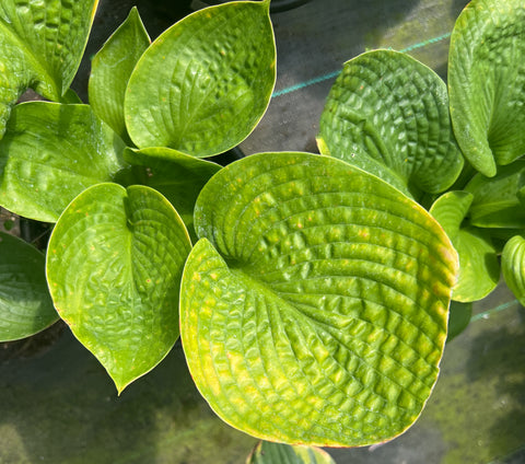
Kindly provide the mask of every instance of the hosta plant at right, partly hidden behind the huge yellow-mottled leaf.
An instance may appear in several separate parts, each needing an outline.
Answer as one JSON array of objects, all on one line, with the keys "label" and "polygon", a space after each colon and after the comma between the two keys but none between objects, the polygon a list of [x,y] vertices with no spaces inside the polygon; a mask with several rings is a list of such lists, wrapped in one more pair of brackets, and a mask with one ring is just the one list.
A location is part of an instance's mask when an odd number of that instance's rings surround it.
[{"label": "hosta plant at right, partly hidden behind the huge yellow-mottled leaf", "polygon": [[474,0],[452,34],[448,85],[413,58],[373,50],[345,65],[320,119],[323,153],[382,177],[441,223],[459,257],[459,321],[495,288],[500,260],[525,297],[524,33],[522,1]]}]

